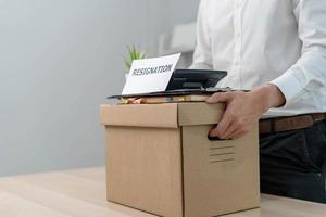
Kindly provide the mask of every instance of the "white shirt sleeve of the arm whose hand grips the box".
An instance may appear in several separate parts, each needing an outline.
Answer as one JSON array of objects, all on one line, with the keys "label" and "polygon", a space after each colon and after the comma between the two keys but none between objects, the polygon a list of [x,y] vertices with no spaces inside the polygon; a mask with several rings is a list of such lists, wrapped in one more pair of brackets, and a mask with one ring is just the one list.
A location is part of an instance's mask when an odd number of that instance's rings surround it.
[{"label": "white shirt sleeve of the arm whose hand grips the box", "polygon": [[292,104],[326,87],[326,1],[292,0],[302,53],[298,62],[271,81]]}]

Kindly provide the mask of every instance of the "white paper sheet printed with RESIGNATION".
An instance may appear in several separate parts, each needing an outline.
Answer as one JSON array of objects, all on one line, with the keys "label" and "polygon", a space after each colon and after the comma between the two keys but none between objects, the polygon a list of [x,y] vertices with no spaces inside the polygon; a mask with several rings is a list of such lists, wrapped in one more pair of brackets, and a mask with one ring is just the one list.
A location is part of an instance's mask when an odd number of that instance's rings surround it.
[{"label": "white paper sheet printed with RESIGNATION", "polygon": [[122,94],[164,91],[180,55],[135,60]]}]

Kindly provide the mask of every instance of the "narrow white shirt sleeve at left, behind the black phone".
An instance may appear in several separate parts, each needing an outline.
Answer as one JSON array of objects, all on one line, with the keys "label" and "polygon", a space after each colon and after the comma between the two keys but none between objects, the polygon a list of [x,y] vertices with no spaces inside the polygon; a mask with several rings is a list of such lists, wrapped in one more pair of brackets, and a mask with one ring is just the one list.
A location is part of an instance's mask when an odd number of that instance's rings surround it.
[{"label": "narrow white shirt sleeve at left, behind the black phone", "polygon": [[206,0],[201,0],[197,18],[197,44],[193,53],[192,69],[212,69],[211,33],[208,26]]}]

